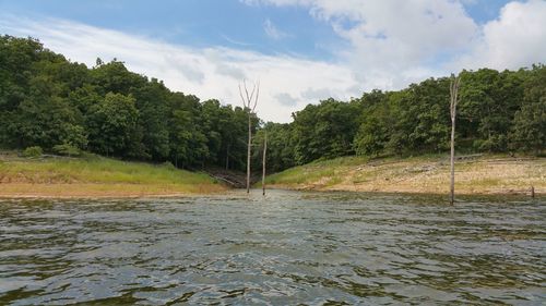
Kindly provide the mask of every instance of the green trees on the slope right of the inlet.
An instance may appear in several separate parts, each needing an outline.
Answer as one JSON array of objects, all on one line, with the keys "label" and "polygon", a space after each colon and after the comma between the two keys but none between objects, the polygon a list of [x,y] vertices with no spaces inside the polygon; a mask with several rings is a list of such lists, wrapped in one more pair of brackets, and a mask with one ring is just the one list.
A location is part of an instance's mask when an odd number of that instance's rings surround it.
[{"label": "green trees on the slope right of the inlet", "polygon": [[[460,77],[458,152],[544,154],[544,64],[518,71],[463,71]],[[330,98],[293,113],[289,124],[268,123],[263,126],[268,164],[278,171],[349,155],[448,154],[450,79],[429,78],[402,90],[371,90],[349,101]]]}]

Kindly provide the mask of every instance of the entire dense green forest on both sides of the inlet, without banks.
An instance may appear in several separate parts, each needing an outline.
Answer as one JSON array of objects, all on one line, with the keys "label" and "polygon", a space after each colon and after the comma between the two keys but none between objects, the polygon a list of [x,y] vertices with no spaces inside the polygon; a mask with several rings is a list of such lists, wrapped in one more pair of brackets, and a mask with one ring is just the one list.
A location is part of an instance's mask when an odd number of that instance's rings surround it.
[{"label": "entire dense green forest on both sides of the inlet, without banks", "polygon": [[[463,71],[456,121],[460,152],[542,154],[546,147],[546,66]],[[268,133],[270,171],[346,155],[444,152],[449,77],[349,101],[327,99],[289,124],[254,118],[254,169]],[[335,86],[335,84],[332,84]],[[316,101],[310,101],[316,102]],[[179,168],[246,163],[247,113],[174,93],[116,59],[93,68],[31,38],[0,37],[0,147],[86,150]]]}]

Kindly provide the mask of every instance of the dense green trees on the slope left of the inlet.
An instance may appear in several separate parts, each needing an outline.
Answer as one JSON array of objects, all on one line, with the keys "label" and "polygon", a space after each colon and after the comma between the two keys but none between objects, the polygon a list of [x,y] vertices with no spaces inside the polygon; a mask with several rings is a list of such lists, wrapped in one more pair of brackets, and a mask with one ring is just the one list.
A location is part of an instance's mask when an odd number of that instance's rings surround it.
[{"label": "dense green trees on the slope left of the inlet", "polygon": [[61,145],[179,168],[242,170],[247,120],[240,107],[171,91],[116,59],[88,69],[38,40],[0,37],[3,148]]}]

